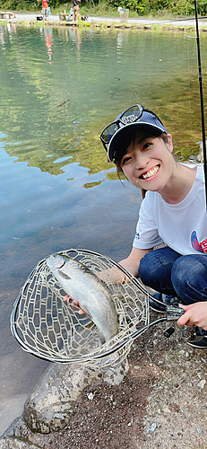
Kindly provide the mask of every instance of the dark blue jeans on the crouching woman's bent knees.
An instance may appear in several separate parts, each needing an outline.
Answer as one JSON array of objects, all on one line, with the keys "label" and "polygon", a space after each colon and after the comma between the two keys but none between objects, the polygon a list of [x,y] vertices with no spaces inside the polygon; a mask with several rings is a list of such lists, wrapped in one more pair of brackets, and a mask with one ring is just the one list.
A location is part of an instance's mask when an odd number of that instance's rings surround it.
[{"label": "dark blue jeans on the crouching woman's bent knees", "polygon": [[177,296],[184,304],[207,301],[207,255],[182,256],[168,247],[151,251],[140,262],[145,286]]}]

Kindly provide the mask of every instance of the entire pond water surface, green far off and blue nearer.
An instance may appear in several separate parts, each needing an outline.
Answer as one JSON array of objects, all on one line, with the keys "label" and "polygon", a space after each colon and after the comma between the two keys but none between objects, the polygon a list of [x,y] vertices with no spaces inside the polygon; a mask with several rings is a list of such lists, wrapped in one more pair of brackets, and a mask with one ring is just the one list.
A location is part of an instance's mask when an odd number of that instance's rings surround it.
[{"label": "entire pond water surface, green far off and blue nearer", "polygon": [[[201,44],[205,87],[204,33]],[[178,156],[196,152],[202,133],[196,42],[187,33],[8,25],[0,45],[1,434],[47,366],[10,332],[31,269],[69,248],[114,260],[131,249],[141,194],[117,180],[102,128],[139,102],[160,115]]]}]

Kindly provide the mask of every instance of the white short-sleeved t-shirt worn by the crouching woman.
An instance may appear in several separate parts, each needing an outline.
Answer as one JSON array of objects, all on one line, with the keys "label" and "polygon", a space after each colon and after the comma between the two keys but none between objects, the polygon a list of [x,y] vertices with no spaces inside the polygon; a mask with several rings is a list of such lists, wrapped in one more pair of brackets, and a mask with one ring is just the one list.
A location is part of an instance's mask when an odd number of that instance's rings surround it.
[{"label": "white short-sleeved t-shirt worn by the crouching woman", "polygon": [[[195,165],[187,165],[194,168]],[[142,200],[134,247],[148,250],[166,243],[179,254],[207,253],[207,214],[203,164],[198,164],[194,185],[178,204],[168,204],[158,192]]]}]

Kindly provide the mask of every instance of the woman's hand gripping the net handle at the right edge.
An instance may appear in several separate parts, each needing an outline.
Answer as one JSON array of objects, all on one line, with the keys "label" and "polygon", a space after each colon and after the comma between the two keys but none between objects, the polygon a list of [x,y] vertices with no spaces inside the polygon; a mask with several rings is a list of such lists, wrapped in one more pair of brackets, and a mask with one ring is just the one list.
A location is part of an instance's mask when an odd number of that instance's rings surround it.
[{"label": "woman's hand gripping the net handle at the right edge", "polygon": [[194,303],[189,305],[181,305],[179,307],[185,310],[177,321],[178,326],[198,326],[203,330],[207,330],[207,302]]}]

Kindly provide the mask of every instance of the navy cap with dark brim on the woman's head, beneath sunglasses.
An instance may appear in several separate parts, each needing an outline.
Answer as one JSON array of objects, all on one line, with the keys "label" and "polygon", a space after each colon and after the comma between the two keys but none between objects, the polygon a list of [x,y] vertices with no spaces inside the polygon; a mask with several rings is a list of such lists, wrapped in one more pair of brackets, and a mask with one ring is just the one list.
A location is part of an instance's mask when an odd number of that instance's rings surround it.
[{"label": "navy cap with dark brim on the woman's head, beneath sunglasses", "polygon": [[[116,120],[121,115],[122,114],[119,114]],[[126,149],[131,142],[132,134],[134,132],[139,133],[139,131],[144,131],[146,134],[150,132],[153,133],[154,136],[160,136],[162,133],[168,134],[167,129],[156,115],[154,115],[153,112],[151,113],[144,110],[140,119],[133,123],[123,124],[122,128],[119,128],[111,138],[108,144],[108,161],[115,162],[118,151],[123,151],[123,145],[125,145]]]}]

